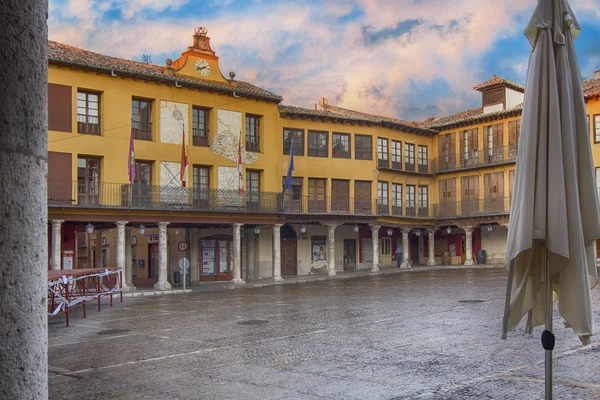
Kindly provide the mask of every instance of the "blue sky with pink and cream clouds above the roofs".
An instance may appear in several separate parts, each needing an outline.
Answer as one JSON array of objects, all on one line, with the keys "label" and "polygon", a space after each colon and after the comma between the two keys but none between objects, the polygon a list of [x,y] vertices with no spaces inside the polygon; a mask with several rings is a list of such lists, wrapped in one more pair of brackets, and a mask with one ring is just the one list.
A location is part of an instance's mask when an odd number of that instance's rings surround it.
[{"label": "blue sky with pink and cream clouds above the roofs", "polygon": [[[581,75],[600,69],[600,0],[570,0]],[[411,121],[481,104],[494,74],[525,84],[536,0],[49,0],[49,39],[154,64],[208,29],[224,76],[283,96]]]}]

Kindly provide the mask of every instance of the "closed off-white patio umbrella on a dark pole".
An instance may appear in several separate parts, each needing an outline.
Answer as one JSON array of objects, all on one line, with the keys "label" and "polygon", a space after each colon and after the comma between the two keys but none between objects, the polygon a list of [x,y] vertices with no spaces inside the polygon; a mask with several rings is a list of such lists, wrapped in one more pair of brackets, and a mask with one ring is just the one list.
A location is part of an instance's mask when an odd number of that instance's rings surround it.
[{"label": "closed off-white patio umbrella on a dark pole", "polygon": [[[506,260],[510,263],[503,338],[529,313],[546,324],[546,398],[552,393],[552,302],[589,342],[590,289],[598,280],[600,207],[581,76],[580,32],[567,0],[539,0],[525,36],[532,45],[523,103]],[[547,277],[550,279],[547,279]]]}]

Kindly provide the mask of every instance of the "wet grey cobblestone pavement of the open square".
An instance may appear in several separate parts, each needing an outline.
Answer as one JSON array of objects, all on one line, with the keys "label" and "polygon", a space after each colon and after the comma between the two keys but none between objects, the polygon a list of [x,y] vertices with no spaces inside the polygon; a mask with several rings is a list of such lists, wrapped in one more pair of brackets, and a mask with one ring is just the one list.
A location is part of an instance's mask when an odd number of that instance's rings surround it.
[{"label": "wet grey cobblestone pavement of the open square", "polygon": [[[503,270],[441,270],[76,310],[49,322],[50,398],[543,398],[542,329],[500,339],[505,290]],[[555,398],[600,398],[598,337],[557,315]]]}]

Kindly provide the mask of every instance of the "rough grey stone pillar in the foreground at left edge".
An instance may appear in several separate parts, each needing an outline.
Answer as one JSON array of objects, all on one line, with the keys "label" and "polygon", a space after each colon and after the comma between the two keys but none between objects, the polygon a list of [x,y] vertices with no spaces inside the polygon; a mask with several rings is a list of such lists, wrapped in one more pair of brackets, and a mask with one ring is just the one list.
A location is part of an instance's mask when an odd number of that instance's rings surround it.
[{"label": "rough grey stone pillar in the foreground at left edge", "polygon": [[48,398],[48,2],[0,2],[0,398]]}]

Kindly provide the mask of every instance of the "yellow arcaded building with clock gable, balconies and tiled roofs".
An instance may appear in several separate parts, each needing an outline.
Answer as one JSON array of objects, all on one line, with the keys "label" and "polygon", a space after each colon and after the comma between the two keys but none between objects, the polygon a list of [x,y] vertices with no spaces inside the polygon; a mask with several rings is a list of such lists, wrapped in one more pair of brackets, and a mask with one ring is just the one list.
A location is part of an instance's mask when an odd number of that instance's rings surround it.
[{"label": "yellow arcaded building with clock gable, balconies and tiled roofs", "polygon": [[517,84],[494,77],[482,107],[415,123],[283,105],[223,76],[202,28],[164,66],[55,42],[48,56],[51,268],[119,266],[129,287],[166,289],[186,262],[192,284],[241,284],[503,260]]}]

